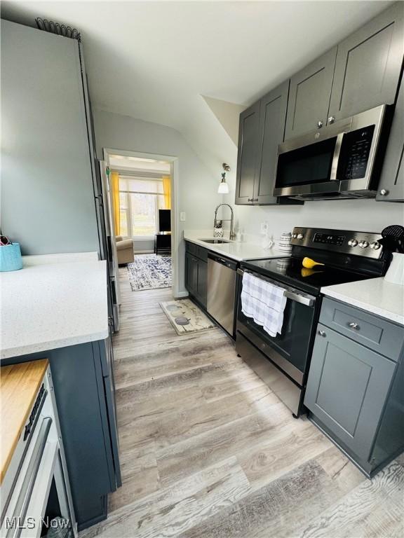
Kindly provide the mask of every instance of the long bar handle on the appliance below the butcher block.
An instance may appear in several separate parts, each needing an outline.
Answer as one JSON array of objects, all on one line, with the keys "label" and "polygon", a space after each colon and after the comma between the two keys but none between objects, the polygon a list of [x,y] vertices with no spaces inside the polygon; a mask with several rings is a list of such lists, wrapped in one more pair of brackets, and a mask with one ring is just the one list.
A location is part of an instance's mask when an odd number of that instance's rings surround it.
[{"label": "long bar handle on the appliance below the butcher block", "polygon": [[[39,434],[35,442],[34,450],[32,452],[32,457],[31,460],[29,460],[27,474],[25,475],[24,481],[22,482],[20,495],[18,495],[17,502],[15,503],[15,509],[13,513],[13,520],[15,521],[25,521],[29,501],[31,500],[32,490],[34,489],[36,475],[38,474],[39,465],[41,464],[43,450],[45,450],[51,424],[52,419],[50,417],[44,418],[41,423]],[[20,527],[20,525],[11,526],[8,529],[6,538],[18,538],[21,534],[21,531],[22,527]]]}]

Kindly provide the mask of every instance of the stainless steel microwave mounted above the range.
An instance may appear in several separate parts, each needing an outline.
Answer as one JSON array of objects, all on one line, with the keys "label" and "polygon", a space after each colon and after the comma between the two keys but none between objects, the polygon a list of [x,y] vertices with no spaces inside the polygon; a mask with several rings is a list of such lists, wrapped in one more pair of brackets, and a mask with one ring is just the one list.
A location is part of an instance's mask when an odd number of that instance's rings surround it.
[{"label": "stainless steel microwave mounted above the range", "polygon": [[278,146],[274,195],[374,198],[388,136],[385,104]]}]

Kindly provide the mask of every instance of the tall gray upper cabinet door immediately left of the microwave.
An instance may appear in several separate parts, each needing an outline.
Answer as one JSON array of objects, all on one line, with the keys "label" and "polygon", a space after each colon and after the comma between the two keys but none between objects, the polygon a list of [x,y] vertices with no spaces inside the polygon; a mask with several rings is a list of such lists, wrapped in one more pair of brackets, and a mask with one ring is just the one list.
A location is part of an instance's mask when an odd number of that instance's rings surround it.
[{"label": "tall gray upper cabinet door immediately left of the microwave", "polygon": [[261,99],[260,153],[255,179],[254,201],[258,204],[276,204],[274,196],[276,156],[278,144],[285,134],[288,109],[289,81],[281,84]]}]

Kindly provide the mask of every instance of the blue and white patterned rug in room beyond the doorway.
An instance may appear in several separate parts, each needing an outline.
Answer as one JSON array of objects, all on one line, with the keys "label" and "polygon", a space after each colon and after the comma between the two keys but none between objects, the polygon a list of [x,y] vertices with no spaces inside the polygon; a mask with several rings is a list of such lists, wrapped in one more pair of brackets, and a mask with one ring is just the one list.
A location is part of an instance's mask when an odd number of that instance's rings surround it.
[{"label": "blue and white patterned rug in room beyond the doorway", "polygon": [[132,291],[171,287],[171,256],[136,254],[127,269]]}]

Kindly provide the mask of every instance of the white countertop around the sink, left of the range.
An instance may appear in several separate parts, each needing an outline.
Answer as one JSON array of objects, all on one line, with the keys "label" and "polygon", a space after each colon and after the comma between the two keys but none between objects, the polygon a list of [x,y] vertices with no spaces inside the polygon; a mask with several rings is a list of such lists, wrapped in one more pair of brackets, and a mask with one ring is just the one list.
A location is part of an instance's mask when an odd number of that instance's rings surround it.
[{"label": "white countertop around the sink, left of the range", "polygon": [[[184,240],[190,241],[192,243],[198,244],[204,249],[211,250],[217,254],[222,254],[222,256],[227,256],[236,261],[245,261],[245,260],[260,260],[265,258],[282,258],[289,256],[284,252],[281,252],[272,247],[271,249],[263,249],[257,244],[250,244],[248,242],[238,242],[230,241],[228,243],[214,244],[203,242],[203,239],[213,239],[213,235],[187,232],[184,231]],[[227,240],[224,237],[224,240]],[[228,241],[228,240],[227,240]]]}]

